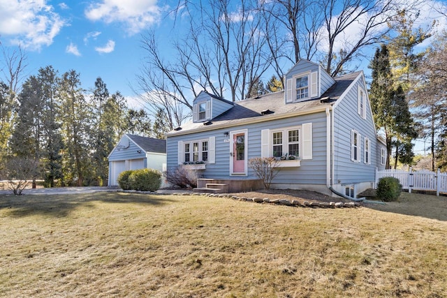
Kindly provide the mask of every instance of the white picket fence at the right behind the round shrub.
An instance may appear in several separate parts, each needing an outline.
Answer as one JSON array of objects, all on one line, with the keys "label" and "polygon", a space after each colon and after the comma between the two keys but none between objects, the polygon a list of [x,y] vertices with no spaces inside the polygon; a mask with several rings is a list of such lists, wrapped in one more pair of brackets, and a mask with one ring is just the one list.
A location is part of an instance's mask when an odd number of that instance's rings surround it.
[{"label": "white picket fence at the right behind the round shrub", "polygon": [[376,170],[376,185],[382,177],[395,177],[399,179],[403,189],[418,191],[436,191],[439,193],[447,193],[447,173],[430,171],[413,171],[411,167],[408,171],[403,170]]}]

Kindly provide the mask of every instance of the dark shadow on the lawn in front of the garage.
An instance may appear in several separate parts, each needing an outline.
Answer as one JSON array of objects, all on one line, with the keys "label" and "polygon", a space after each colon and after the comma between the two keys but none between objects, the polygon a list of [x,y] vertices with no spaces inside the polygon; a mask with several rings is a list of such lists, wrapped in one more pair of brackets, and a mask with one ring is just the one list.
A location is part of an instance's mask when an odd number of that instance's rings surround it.
[{"label": "dark shadow on the lawn in front of the garage", "polygon": [[6,216],[23,217],[42,214],[53,217],[68,216],[78,207],[94,208],[92,202],[132,203],[161,206],[174,200],[164,195],[147,195],[138,193],[78,193],[69,195],[0,195],[0,210],[9,209]]}]

